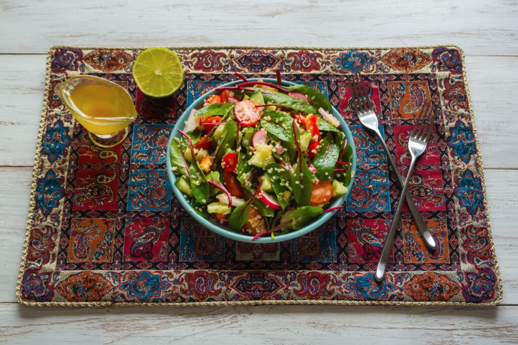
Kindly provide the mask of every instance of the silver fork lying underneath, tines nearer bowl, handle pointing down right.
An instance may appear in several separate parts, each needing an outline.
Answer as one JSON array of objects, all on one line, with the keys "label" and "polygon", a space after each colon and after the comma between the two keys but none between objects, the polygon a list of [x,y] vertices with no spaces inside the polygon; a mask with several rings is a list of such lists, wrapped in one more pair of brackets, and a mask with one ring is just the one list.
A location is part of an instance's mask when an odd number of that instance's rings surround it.
[{"label": "silver fork lying underneath, tines nearer bowl, handle pointing down right", "polygon": [[[378,128],[378,117],[376,116],[376,113],[372,110],[372,107],[370,106],[369,97],[367,93],[365,92],[365,87],[363,84],[363,77],[360,75],[359,80],[357,79],[351,79],[347,77],[347,80],[349,82],[349,86],[351,88],[351,98],[353,100],[353,107],[356,112],[356,115],[358,116],[359,122],[362,123],[365,127],[372,130],[376,133],[378,136],[378,139],[381,142],[381,145],[383,146],[383,149],[385,150],[385,153],[390,161],[390,164],[392,166],[392,170],[394,170],[394,173],[396,174],[397,181],[399,182],[400,186],[403,186],[403,178],[401,177],[401,174],[399,173],[399,170],[397,169],[396,162],[392,158],[392,154],[390,152],[390,149],[387,147],[385,143],[385,139],[380,133],[380,130]],[[428,103],[429,107],[429,103]],[[428,110],[426,110],[428,111]],[[407,199],[408,207],[410,208],[410,212],[412,213],[412,217],[415,221],[415,226],[418,228],[419,233],[421,234],[421,237],[424,240],[424,243],[428,248],[435,249],[436,243],[434,241],[434,238],[431,236],[430,232],[428,231],[428,228],[426,227],[426,224],[419,214],[418,208],[415,206],[414,200],[410,196],[410,193],[408,191],[405,191],[402,195],[405,195]]]}]

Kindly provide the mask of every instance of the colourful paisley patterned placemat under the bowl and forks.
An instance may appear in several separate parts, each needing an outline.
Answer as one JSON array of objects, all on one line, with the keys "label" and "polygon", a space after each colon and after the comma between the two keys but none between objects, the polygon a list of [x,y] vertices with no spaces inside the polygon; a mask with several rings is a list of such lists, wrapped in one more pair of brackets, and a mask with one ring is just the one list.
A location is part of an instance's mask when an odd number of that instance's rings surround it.
[{"label": "colourful paisley patterned placemat under the bowl and forks", "polygon": [[[140,49],[54,47],[36,148],[17,295],[27,305],[467,304],[502,295],[484,175],[456,47],[312,49],[174,48],[185,81],[165,99],[144,97],[131,75]],[[272,77],[318,88],[350,124],[357,147],[346,207],[291,242],[236,243],[199,226],[171,195],[165,166],[176,118],[210,88]],[[383,283],[373,270],[399,189],[376,140],[351,109],[347,74],[362,72],[380,130],[403,175],[412,116],[439,104],[434,138],[410,191],[439,249],[430,252],[408,209]],[[111,149],[91,145],[54,93],[93,74],[124,86],[139,113]]]}]

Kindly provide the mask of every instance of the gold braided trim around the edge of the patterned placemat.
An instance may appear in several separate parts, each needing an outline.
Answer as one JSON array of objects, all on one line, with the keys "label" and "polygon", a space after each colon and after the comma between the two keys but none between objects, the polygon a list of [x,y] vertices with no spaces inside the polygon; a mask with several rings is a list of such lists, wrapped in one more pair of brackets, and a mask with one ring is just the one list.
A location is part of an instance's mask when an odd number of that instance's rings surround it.
[{"label": "gold braided trim around the edge of the patterned placemat", "polygon": [[[300,49],[300,50],[392,50],[392,49],[434,49],[437,47],[449,47],[455,48],[461,53],[462,66],[463,66],[463,79],[464,85],[466,88],[466,94],[468,97],[469,111],[471,113],[470,116],[470,124],[471,128],[473,128],[473,135],[475,137],[475,143],[477,147],[477,158],[476,158],[476,168],[481,172],[481,185],[483,188],[484,195],[484,205],[487,213],[487,197],[486,197],[486,189],[485,189],[485,179],[484,179],[484,168],[482,164],[482,154],[480,151],[480,143],[477,136],[477,128],[474,121],[473,114],[473,106],[471,103],[471,95],[469,93],[469,87],[467,82],[467,72],[466,72],[466,62],[464,50],[455,46],[454,44],[441,44],[439,46],[419,46],[419,47],[363,47],[363,48],[351,48],[351,47],[300,47],[300,46],[279,46],[279,47],[256,47],[256,46],[179,46],[179,47],[167,47],[170,49]],[[140,306],[168,306],[168,307],[210,307],[210,306],[255,306],[255,305],[391,305],[391,306],[469,306],[469,307],[485,307],[485,306],[496,306],[502,300],[502,278],[500,275],[500,268],[498,266],[498,262],[496,259],[496,250],[495,244],[493,241],[493,234],[491,231],[491,222],[489,219],[489,215],[487,216],[487,233],[491,245],[491,254],[494,262],[494,271],[496,275],[496,291],[495,298],[491,302],[483,302],[483,303],[468,303],[468,302],[399,302],[399,301],[352,301],[352,300],[344,300],[344,301],[336,301],[336,300],[313,300],[313,299],[293,299],[293,300],[267,300],[267,301],[214,301],[214,302],[33,302],[33,301],[25,301],[22,298],[21,294],[21,284],[23,273],[25,271],[25,264],[27,261],[27,252],[28,252],[28,242],[31,234],[31,222],[34,215],[34,194],[36,191],[37,185],[37,165],[39,152],[41,151],[41,138],[43,137],[45,130],[45,115],[47,113],[48,106],[48,96],[50,93],[50,74],[51,74],[51,62],[52,55],[56,48],[68,48],[68,49],[81,49],[81,50],[92,50],[92,49],[122,49],[122,50],[143,50],[149,47],[77,47],[77,46],[53,46],[49,49],[47,53],[47,73],[45,78],[45,93],[44,93],[44,101],[41,111],[41,119],[38,131],[38,138],[36,142],[36,152],[34,155],[34,167],[33,167],[33,179],[31,184],[31,199],[29,201],[29,213],[27,217],[27,228],[25,233],[25,241],[23,244],[22,251],[22,260],[20,265],[20,273],[18,275],[17,287],[16,287],[16,298],[18,303],[32,306],[32,307],[95,307],[95,306],[109,306],[109,307],[140,307]]]}]

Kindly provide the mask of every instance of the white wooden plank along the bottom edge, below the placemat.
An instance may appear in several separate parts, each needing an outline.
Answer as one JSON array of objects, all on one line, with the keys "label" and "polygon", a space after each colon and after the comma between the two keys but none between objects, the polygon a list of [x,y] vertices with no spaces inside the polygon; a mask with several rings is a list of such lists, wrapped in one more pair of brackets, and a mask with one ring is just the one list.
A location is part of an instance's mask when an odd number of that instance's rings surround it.
[{"label": "white wooden plank along the bottom edge, below the placemat", "polygon": [[[65,327],[65,328],[64,328]],[[63,330],[66,329],[64,332]],[[255,306],[30,308],[0,305],[10,344],[516,343],[518,307]],[[385,339],[385,340],[381,340]],[[370,341],[369,341],[370,340]]]}]

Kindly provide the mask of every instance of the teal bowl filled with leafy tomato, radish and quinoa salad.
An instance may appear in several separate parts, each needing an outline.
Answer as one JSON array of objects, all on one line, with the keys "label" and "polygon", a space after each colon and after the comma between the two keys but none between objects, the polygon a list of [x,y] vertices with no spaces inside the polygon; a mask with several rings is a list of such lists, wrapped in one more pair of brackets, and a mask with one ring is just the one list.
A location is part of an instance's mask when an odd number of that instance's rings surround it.
[{"label": "teal bowl filled with leafy tomato, radish and quinoa salad", "polygon": [[173,190],[225,237],[298,237],[342,207],[356,167],[351,132],[310,86],[237,76],[242,81],[203,95],[177,122],[167,155]]}]

